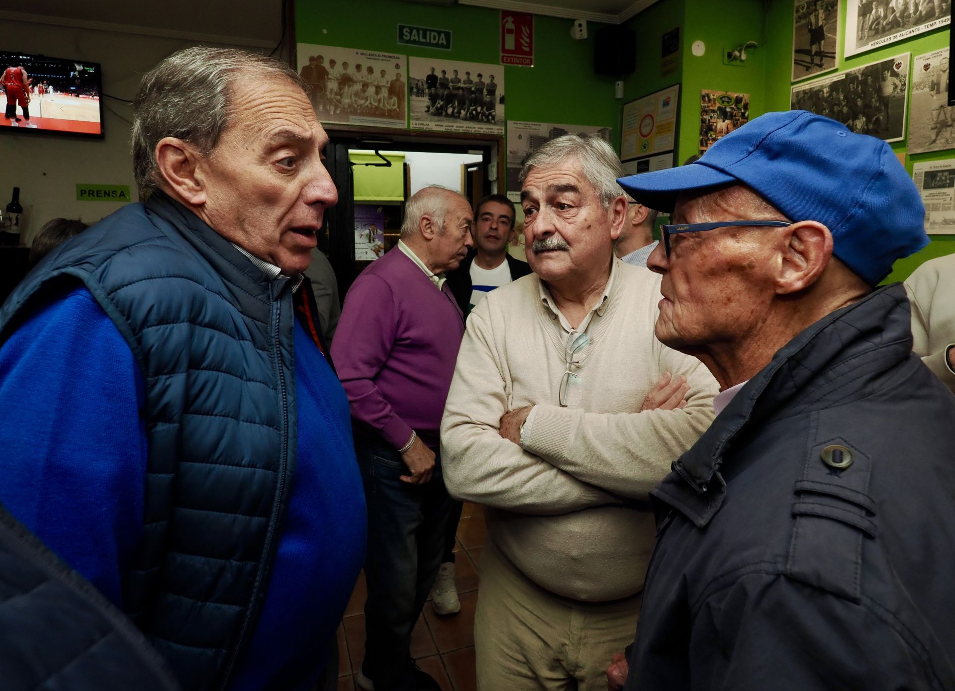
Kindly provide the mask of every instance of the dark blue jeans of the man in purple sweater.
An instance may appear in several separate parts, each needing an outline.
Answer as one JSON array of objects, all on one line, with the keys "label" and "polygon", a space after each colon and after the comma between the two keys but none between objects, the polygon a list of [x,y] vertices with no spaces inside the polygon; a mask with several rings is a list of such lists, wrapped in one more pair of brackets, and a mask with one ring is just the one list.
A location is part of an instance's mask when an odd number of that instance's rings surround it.
[{"label": "dark blue jeans of the man in purple sweater", "polygon": [[452,499],[440,458],[426,485],[402,482],[411,471],[381,441],[355,437],[368,503],[365,578],[365,661],[375,691],[414,691],[410,647],[414,623],[435,584]]}]

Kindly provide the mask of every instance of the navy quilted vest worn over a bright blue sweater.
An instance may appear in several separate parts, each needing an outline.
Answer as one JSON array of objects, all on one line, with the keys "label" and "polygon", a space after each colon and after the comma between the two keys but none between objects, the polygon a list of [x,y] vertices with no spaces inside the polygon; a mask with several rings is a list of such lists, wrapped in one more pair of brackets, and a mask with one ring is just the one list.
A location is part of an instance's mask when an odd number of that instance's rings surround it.
[{"label": "navy quilted vest worn over a bright blue sweater", "polygon": [[146,386],[144,533],[123,608],[183,687],[223,688],[262,610],[295,467],[290,286],[157,193],[40,262],[0,310],[0,344],[77,282]]}]

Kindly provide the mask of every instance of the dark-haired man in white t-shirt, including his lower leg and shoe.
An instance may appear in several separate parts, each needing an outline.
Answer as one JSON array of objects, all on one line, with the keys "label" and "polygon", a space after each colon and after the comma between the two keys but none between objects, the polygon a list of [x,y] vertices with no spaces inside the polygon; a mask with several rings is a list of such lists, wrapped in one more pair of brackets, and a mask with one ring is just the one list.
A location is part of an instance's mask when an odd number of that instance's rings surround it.
[{"label": "dark-haired man in white t-shirt, including his lower leg and shoe", "polygon": [[[531,273],[527,262],[521,262],[507,252],[514,216],[514,202],[503,195],[489,195],[477,202],[475,222],[471,226],[475,251],[454,271],[445,273],[448,287],[465,316],[495,288]],[[454,554],[461,508],[461,503],[456,502],[448,521],[444,556],[432,591],[432,604],[438,615],[453,615],[461,608],[455,587]]]}]

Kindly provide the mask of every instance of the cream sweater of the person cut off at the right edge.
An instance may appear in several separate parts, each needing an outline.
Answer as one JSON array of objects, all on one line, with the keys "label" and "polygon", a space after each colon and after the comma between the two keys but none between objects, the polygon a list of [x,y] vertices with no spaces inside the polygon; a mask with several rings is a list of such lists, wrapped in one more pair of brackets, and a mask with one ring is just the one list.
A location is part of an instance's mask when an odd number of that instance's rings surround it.
[{"label": "cream sweater of the person cut off at the right edge", "polygon": [[929,260],[905,280],[912,304],[912,351],[955,392],[946,352],[955,344],[955,254]]}]

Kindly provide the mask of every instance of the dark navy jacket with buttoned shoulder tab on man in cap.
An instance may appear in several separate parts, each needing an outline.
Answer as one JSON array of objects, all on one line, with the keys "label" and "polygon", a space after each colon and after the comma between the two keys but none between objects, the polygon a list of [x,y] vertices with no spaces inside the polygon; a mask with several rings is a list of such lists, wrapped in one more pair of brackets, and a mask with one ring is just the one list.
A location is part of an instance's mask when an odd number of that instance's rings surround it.
[{"label": "dark navy jacket with buttoned shoulder tab on man in cap", "polygon": [[881,288],[674,463],[626,689],[955,688],[955,396],[911,349]]}]

